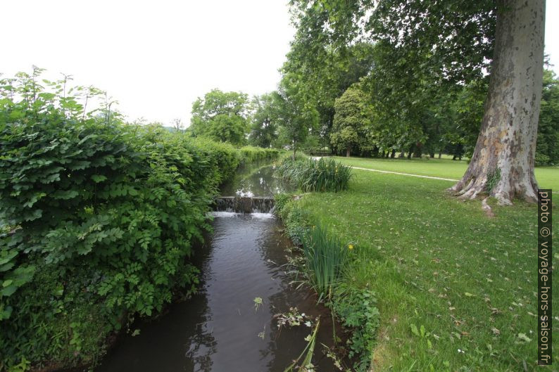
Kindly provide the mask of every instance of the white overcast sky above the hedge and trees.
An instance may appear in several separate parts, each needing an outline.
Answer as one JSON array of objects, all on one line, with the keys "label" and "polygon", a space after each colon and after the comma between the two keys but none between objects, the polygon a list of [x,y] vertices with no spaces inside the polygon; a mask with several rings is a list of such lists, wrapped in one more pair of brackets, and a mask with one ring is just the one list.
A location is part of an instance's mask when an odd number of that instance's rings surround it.
[{"label": "white overcast sky above the hedge and trees", "polygon": [[[559,75],[558,16],[548,0],[546,53]],[[165,124],[189,124],[192,102],[213,88],[274,90],[294,34],[287,0],[0,0],[0,20],[4,75],[64,72],[108,91],[130,120]]]}]

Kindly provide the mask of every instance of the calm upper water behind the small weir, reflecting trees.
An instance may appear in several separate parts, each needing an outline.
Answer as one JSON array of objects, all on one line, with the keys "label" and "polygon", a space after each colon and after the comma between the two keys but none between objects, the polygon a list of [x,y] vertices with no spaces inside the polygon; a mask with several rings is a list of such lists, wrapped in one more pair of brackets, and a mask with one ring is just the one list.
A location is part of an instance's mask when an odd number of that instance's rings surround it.
[{"label": "calm upper water behind the small weir, reflecting trees", "polygon": [[293,191],[292,186],[274,176],[275,165],[253,165],[240,169],[234,179],[223,185],[221,196],[273,196]]}]

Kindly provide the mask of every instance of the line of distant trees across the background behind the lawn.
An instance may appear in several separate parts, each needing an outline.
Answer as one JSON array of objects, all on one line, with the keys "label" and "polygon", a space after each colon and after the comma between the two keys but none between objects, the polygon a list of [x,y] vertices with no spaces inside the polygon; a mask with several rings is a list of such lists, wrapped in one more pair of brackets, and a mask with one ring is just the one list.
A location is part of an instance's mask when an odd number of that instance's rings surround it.
[{"label": "line of distant trees across the background behind the lawn", "polygon": [[[236,146],[322,148],[348,156],[439,158],[449,154],[461,160],[472,155],[484,113],[486,77],[467,85],[457,84],[452,90],[439,89],[429,104],[413,105],[419,107],[413,112],[414,120],[410,120],[409,108],[401,108],[398,113],[375,100],[374,95],[381,94],[383,87],[372,75],[374,46],[359,45],[355,49],[360,57],[346,56],[347,64],[337,63],[335,74],[323,75],[330,79],[321,82],[322,86],[314,87],[318,82],[285,72],[277,91],[252,99],[241,92],[213,89],[194,102],[186,132]],[[542,89],[536,164],[556,165],[559,79],[553,71],[545,70]],[[323,98],[318,100],[311,92]]]}]

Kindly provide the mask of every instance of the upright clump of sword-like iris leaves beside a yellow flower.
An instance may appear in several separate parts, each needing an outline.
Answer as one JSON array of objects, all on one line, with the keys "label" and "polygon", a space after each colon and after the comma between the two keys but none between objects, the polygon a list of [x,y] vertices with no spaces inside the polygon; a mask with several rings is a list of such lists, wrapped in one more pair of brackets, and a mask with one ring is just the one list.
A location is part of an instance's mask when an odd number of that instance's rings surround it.
[{"label": "upright clump of sword-like iris leaves beside a yellow flower", "polygon": [[332,296],[332,286],[339,280],[347,249],[339,240],[329,238],[326,230],[313,226],[303,238],[303,253],[310,284],[322,298]]}]

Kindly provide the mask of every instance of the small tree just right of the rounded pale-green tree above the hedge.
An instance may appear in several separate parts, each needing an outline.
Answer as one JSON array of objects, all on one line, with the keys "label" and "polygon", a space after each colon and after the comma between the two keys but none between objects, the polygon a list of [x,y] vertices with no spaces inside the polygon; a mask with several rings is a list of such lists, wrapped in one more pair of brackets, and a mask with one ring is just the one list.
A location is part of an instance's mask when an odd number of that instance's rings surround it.
[{"label": "small tree just right of the rounded pale-green tree above the hedge", "polygon": [[249,142],[253,146],[269,148],[277,138],[277,108],[275,94],[255,96],[252,101],[253,113],[250,117],[251,132]]}]

